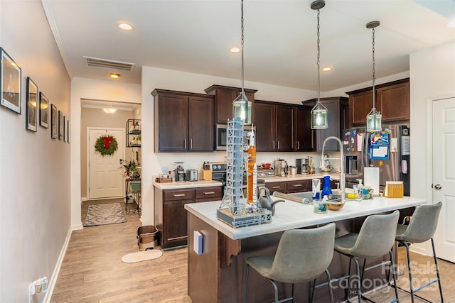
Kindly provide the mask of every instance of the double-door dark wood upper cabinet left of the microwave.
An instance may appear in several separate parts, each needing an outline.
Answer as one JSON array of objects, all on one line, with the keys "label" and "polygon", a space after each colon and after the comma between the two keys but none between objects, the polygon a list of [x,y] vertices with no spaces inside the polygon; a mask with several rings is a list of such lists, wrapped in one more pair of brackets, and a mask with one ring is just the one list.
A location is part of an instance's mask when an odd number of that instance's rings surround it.
[{"label": "double-door dark wood upper cabinet left of the microwave", "polygon": [[211,152],[213,96],[155,89],[155,152]]}]

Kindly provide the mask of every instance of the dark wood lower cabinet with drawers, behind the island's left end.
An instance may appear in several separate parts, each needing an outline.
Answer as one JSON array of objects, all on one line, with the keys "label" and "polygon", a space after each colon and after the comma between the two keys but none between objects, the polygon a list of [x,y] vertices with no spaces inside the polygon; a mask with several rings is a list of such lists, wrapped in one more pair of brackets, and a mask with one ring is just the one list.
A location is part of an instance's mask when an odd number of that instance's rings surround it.
[{"label": "dark wood lower cabinet with drawers, behind the island's left end", "polygon": [[223,198],[222,187],[192,189],[155,188],[155,226],[163,249],[185,246],[188,241],[188,216],[185,204],[217,201]]}]

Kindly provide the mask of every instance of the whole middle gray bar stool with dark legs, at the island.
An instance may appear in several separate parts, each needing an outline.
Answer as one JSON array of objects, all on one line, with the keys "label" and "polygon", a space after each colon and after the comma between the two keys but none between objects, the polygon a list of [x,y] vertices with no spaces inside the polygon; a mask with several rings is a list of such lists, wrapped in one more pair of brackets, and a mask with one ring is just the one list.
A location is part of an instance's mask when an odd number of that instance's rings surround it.
[{"label": "whole middle gray bar stool with dark legs, at the island", "polygon": [[[349,257],[349,271],[348,279],[350,279],[350,264],[351,261],[355,262],[355,270],[357,272],[358,280],[358,302],[362,302],[362,298],[368,301],[371,301],[367,297],[362,295],[362,282],[363,274],[365,270],[370,270],[377,268],[380,265],[385,263],[390,264],[392,268],[393,276],[393,285],[395,288],[395,299],[391,302],[398,302],[398,291],[395,277],[395,270],[393,270],[393,256],[392,256],[392,246],[395,243],[395,233],[397,231],[398,217],[400,216],[399,211],[394,211],[392,214],[378,214],[368,216],[367,219],[362,224],[359,233],[348,233],[345,236],[341,236],[335,239],[335,250],[338,253],[347,255]],[[370,268],[365,268],[365,262],[368,258],[379,258],[382,255],[389,253],[390,261],[385,263],[380,263],[378,265],[373,265]],[[363,261],[362,274],[360,275],[360,268],[358,265],[358,258],[365,259]],[[341,279],[343,279],[342,277]],[[337,279],[340,280],[340,279]],[[387,274],[388,280],[388,274]],[[350,282],[348,282],[348,292],[346,297],[348,302],[350,302],[349,297],[350,292]]]}]

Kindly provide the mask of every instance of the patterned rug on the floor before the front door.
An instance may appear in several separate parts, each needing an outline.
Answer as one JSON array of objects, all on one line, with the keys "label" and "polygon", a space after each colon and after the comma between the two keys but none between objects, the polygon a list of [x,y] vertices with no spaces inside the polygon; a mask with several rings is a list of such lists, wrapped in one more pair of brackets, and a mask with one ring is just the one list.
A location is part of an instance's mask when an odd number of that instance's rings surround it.
[{"label": "patterned rug on the floor before the front door", "polygon": [[90,204],[84,226],[124,223],[127,221],[119,203]]}]

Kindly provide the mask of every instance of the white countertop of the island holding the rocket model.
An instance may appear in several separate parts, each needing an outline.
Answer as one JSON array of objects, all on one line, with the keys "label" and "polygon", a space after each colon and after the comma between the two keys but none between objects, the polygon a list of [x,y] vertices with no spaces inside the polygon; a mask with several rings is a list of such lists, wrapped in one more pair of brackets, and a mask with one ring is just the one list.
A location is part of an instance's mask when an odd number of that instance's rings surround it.
[{"label": "white countertop of the island holding the rocket model", "polygon": [[[277,200],[279,198],[272,197],[272,199]],[[412,197],[377,197],[362,202],[346,201],[346,204],[339,211],[328,211],[327,214],[315,214],[313,212],[313,205],[286,200],[286,202],[275,204],[275,214],[272,216],[272,222],[239,228],[232,228],[217,219],[216,210],[221,204],[220,201],[185,204],[185,209],[229,238],[237,240],[267,233],[286,231],[288,229],[353,219],[360,216],[393,211],[395,209],[405,209],[426,203],[427,201],[424,199]]]}]

